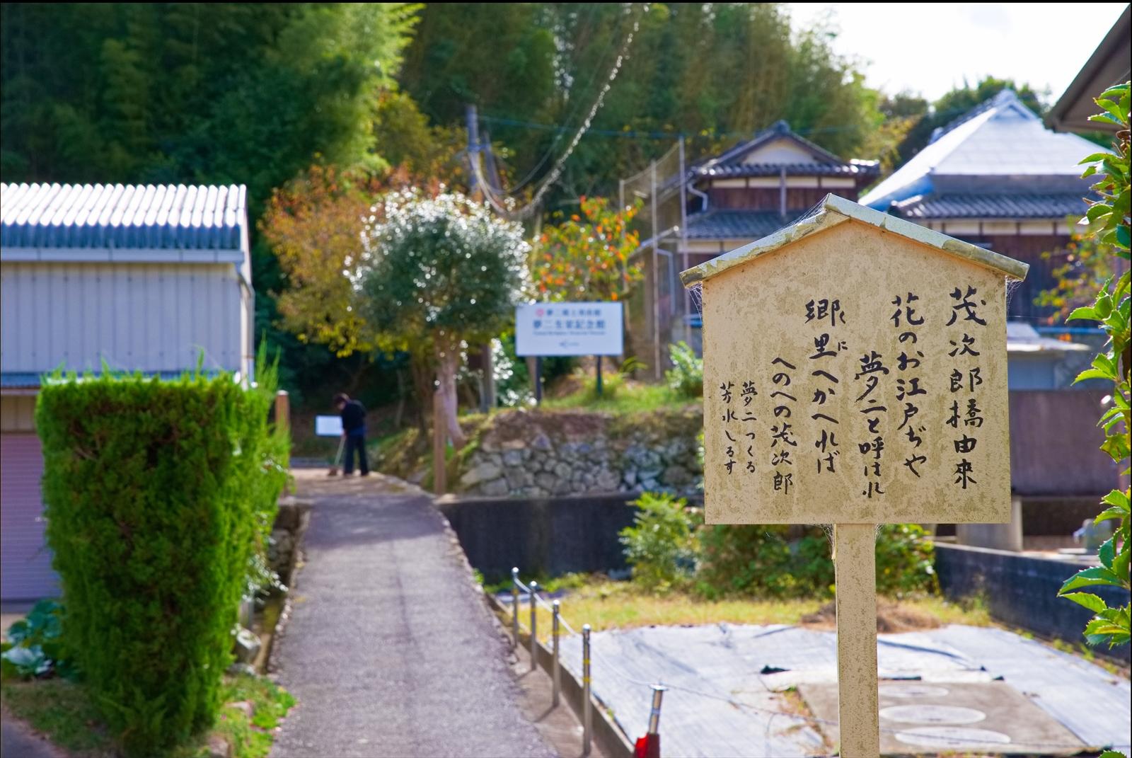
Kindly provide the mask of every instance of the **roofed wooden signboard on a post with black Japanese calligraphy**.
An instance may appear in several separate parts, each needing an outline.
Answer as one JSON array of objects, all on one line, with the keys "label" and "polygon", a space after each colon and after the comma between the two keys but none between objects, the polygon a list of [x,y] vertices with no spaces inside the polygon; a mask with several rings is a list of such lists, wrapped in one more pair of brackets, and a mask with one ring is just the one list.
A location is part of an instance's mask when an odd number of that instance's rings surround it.
[{"label": "roofed wooden signboard on a post with black Japanese calligraphy", "polygon": [[1006,279],[830,195],[703,284],[709,523],[833,523],[842,756],[875,756],[877,523],[1010,520]]}]

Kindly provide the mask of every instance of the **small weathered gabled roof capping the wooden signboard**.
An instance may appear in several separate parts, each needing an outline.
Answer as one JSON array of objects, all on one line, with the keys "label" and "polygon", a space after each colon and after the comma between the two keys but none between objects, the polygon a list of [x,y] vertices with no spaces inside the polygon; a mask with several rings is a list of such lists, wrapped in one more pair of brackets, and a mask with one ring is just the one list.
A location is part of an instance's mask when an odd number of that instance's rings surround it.
[{"label": "small weathered gabled roof capping the wooden signboard", "polygon": [[876,227],[882,231],[900,235],[914,242],[935,247],[947,255],[966,258],[976,265],[1002,272],[1011,279],[1026,279],[1026,272],[1030,269],[1029,264],[1007,258],[1005,255],[992,253],[977,245],[949,237],[942,232],[921,227],[918,223],[874,211],[871,207],[847,201],[837,195],[826,195],[814,214],[799,219],[769,237],[756,239],[749,245],[744,245],[694,269],[688,269],[680,273],[680,281],[684,282],[685,287],[692,287],[697,282],[718,276],[735,266],[773,253],[790,242],[796,242],[804,237],[825,231],[846,221],[859,221],[860,223]]}]

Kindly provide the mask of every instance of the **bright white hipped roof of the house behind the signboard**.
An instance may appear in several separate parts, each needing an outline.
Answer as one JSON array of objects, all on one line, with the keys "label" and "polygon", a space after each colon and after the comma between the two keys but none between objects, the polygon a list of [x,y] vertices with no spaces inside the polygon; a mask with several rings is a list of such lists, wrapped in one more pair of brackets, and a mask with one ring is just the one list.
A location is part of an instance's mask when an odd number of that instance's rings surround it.
[{"label": "bright white hipped roof of the house behind the signboard", "polygon": [[1079,177],[1078,162],[1096,147],[1083,137],[1050,131],[1004,90],[938,135],[860,203],[884,210],[893,201],[928,194],[934,176]]}]

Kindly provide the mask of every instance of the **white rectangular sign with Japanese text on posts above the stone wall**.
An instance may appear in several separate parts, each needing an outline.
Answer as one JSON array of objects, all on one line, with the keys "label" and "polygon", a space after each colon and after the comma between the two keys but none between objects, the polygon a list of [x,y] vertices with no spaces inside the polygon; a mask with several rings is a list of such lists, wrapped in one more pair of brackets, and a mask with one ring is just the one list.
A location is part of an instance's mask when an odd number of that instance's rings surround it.
[{"label": "white rectangular sign with Japanese text on posts above the stone wall", "polygon": [[515,308],[517,356],[619,356],[620,303],[531,303]]}]

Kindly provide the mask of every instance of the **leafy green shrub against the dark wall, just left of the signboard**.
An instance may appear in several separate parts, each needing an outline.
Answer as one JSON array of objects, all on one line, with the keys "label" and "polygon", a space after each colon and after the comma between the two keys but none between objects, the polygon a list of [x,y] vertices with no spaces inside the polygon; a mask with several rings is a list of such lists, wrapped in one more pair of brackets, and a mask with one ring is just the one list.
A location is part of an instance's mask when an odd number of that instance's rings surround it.
[{"label": "leafy green shrub against the dark wall, just left of the signboard", "polygon": [[620,531],[633,580],[658,590],[689,580],[696,567],[697,519],[687,501],[646,492],[633,505],[633,526]]}]

